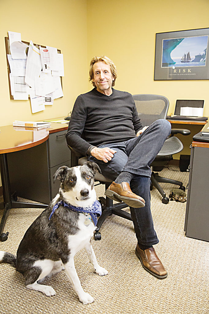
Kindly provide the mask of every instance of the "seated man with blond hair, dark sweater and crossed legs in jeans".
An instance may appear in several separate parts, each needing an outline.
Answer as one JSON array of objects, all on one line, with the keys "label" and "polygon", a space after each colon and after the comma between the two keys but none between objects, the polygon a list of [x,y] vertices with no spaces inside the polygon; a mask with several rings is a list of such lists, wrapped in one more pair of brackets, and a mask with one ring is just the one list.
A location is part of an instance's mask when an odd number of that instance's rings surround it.
[{"label": "seated man with blond hair, dark sweater and crossed legs in jeans", "polygon": [[159,240],[150,209],[149,165],[170,134],[170,123],[161,119],[142,127],[131,94],[112,88],[117,70],[108,57],[94,57],[89,76],[94,89],[76,99],[67,143],[113,180],[105,194],[130,206],[138,240],[135,252],[142,267],[159,279],[166,278],[153,248]]}]

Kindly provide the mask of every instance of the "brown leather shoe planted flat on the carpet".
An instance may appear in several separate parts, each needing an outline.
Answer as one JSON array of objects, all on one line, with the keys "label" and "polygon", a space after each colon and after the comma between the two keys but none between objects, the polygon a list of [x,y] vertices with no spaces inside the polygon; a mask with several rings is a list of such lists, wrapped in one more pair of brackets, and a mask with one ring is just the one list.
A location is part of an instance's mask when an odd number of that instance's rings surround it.
[{"label": "brown leather shoe planted flat on the carpet", "polygon": [[142,263],[142,267],[147,270],[147,272],[151,273],[158,279],[164,279],[168,276],[167,271],[159,260],[153,247],[143,251],[140,249],[137,243],[135,253]]}]

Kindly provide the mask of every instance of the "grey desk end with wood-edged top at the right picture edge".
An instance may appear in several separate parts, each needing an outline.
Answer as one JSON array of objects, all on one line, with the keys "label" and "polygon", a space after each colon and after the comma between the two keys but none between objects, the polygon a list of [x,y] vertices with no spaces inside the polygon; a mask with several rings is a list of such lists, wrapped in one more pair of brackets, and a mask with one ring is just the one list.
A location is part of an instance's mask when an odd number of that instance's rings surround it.
[{"label": "grey desk end with wood-edged top at the right picture edge", "polygon": [[186,236],[209,241],[209,143],[192,142],[186,203]]}]

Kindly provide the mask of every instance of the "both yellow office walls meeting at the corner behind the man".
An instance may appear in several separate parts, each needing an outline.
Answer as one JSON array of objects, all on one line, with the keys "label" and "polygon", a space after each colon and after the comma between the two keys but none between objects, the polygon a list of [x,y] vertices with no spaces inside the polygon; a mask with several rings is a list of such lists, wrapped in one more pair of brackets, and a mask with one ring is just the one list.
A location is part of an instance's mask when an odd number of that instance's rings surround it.
[{"label": "both yellow office walls meeting at the corner behind the man", "polygon": [[[165,95],[169,113],[174,112],[176,99],[204,99],[204,115],[209,116],[208,80],[153,80],[155,34],[207,28],[208,12],[208,0],[1,0],[0,126],[67,115],[76,97],[92,88],[89,62],[102,54],[115,62],[116,89]],[[57,47],[64,55],[64,97],[45,111],[32,114],[29,100],[9,98],[4,44],[8,30],[20,32],[22,40]],[[197,133],[196,129],[192,132]]]}]

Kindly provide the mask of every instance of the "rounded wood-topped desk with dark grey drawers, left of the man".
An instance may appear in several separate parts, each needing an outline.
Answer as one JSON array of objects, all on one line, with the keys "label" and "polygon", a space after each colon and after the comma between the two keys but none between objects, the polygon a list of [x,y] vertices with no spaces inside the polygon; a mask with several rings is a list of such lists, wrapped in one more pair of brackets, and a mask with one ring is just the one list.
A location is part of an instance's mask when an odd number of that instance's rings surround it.
[{"label": "rounded wood-topped desk with dark grey drawers, left of the man", "polygon": [[[0,209],[4,209],[4,212],[0,224],[0,241],[6,241],[8,237],[3,229],[10,209],[46,208],[58,192],[59,183],[55,187],[52,185],[53,174],[60,165],[70,166],[70,151],[65,140],[67,127],[68,124],[61,123],[51,123],[49,128],[39,130],[12,125],[1,127],[3,202],[0,203]],[[17,192],[11,195],[11,191]],[[45,204],[18,202],[17,195]]]}]

